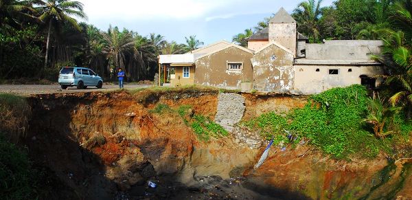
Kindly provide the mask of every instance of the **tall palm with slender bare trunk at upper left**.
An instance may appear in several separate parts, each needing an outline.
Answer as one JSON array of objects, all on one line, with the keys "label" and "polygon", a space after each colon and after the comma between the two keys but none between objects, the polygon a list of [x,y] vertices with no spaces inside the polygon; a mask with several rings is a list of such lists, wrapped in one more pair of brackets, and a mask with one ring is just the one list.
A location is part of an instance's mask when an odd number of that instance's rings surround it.
[{"label": "tall palm with slender bare trunk at upper left", "polygon": [[80,31],[81,28],[78,25],[76,19],[72,16],[79,17],[80,19],[87,19],[87,15],[83,12],[83,4],[79,1],[70,0],[38,0],[35,3],[38,5],[36,10],[41,13],[39,19],[49,25],[47,31],[47,44],[46,44],[46,55],[45,55],[45,68],[47,67],[47,61],[49,57],[49,44],[50,44],[50,34],[52,32],[52,27],[56,29],[60,28],[60,25],[64,22],[69,23],[76,30]]}]

